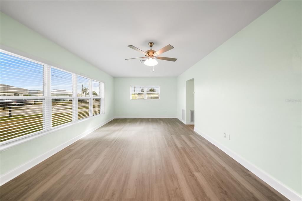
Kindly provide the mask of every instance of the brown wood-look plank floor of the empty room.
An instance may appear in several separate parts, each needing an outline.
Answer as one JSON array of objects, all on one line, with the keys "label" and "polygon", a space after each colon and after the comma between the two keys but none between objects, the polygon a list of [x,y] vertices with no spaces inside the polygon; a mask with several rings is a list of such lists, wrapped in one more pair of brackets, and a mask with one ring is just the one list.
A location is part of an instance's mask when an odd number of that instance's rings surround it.
[{"label": "brown wood-look plank floor of the empty room", "polygon": [[6,200],[287,199],[192,125],[154,118],[110,121],[1,186]]}]

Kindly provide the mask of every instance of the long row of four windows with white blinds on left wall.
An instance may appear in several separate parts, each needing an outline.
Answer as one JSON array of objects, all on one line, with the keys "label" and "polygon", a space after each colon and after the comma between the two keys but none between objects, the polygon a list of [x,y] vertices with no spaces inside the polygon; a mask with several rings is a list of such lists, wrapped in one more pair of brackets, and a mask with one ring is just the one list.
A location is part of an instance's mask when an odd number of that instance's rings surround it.
[{"label": "long row of four windows with white blinds on left wall", "polygon": [[1,144],[102,113],[104,83],[0,50]]}]

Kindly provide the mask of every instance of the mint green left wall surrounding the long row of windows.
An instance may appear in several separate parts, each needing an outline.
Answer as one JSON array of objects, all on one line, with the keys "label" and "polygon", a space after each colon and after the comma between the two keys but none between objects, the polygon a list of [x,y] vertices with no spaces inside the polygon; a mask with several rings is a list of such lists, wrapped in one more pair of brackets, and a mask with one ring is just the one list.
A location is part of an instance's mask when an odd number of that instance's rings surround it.
[{"label": "mint green left wall surrounding the long row of windows", "polygon": [[84,74],[87,77],[105,83],[105,114],[87,119],[79,124],[69,126],[43,137],[38,137],[1,152],[0,169],[1,174],[5,174],[13,168],[80,135],[85,132],[85,130],[112,118],[114,116],[114,79],[95,66],[92,66],[3,13],[1,13],[0,22],[1,49],[11,52],[14,51],[16,54],[21,54],[46,64],[52,64],[70,72]]}]

